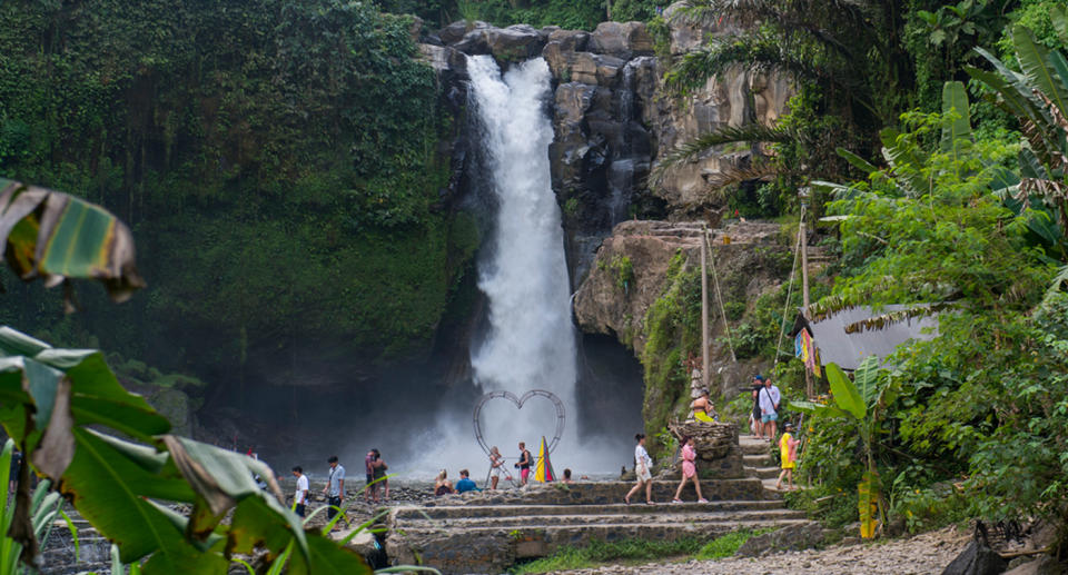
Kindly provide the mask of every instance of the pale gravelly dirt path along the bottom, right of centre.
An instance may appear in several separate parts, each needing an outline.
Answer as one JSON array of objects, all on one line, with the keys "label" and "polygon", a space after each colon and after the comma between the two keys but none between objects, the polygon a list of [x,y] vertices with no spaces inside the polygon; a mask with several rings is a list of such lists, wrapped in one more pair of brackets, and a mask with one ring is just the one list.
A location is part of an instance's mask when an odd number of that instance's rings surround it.
[{"label": "pale gravelly dirt path along the bottom, right of centre", "polygon": [[956,528],[924,533],[886,543],[835,545],[821,551],[789,552],[765,557],[604,566],[560,573],[572,575],[938,575],[968,544],[970,535]]}]

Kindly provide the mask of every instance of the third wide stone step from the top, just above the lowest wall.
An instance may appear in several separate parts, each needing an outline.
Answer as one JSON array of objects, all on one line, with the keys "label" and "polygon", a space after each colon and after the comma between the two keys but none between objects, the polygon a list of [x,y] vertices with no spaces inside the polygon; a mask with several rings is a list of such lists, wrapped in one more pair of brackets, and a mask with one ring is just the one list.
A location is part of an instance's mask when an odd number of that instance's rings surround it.
[{"label": "third wide stone step from the top, just above the lowest wall", "polygon": [[[793,509],[768,509],[754,512],[703,512],[699,505],[663,504],[645,505],[642,507],[660,508],[659,514],[604,514],[604,515],[541,515],[518,517],[455,517],[448,519],[405,519],[405,531],[438,529],[438,528],[500,528],[524,529],[532,524],[540,526],[605,526],[605,525],[662,525],[662,524],[743,524],[753,522],[777,522],[788,519],[803,519],[804,513]],[[634,506],[632,506],[634,507]],[[685,509],[691,507],[690,509]]]}]

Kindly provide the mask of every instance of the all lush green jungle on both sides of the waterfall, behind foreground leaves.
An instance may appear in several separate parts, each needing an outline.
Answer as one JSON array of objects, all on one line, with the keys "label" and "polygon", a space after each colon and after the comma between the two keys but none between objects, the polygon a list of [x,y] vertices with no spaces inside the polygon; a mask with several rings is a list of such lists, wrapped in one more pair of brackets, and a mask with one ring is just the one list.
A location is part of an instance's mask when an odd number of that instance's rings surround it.
[{"label": "all lush green jungle on both sides of the waterfall, behind foreground leaves", "polygon": [[[774,361],[788,410],[805,417],[801,475],[813,488],[793,503],[841,525],[874,493],[886,524],[912,529],[1066,516],[1062,2],[686,4],[673,18],[729,18],[745,32],[674,57],[666,97],[739,66],[789,73],[797,95],[778,126],[703,135],[661,169],[729,142],[765,145],[763,161],[710,194],[742,216],[795,226],[797,191],[811,188],[813,238],[835,257],[815,278],[813,314],[890,304],[938,314],[937,338],[858,369],[852,387],[824,383],[838,389],[821,404],[802,401],[803,367],[775,348],[797,291],[732,304],[739,356]],[[129,224],[150,287],[119,306],[97,286],[78,288],[83,309],[63,316],[62,294],[8,274],[0,316],[53,344],[119,354],[120,371],[180,371],[231,398],[245,393],[248,365],[267,366],[257,380],[308,377],[296,365],[309,349],[333,354],[354,380],[425,358],[469,303],[479,238],[449,201],[445,151],[463,111],[413,58],[409,14],[429,28],[592,29],[611,18],[663,29],[656,8],[2,2],[0,177],[111,209]],[[678,398],[682,359],[700,346],[700,278],[671,272],[645,320],[643,361],[646,386]],[[666,417],[669,399],[646,417]]]}]

